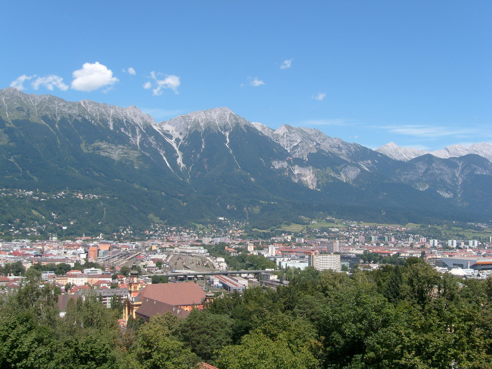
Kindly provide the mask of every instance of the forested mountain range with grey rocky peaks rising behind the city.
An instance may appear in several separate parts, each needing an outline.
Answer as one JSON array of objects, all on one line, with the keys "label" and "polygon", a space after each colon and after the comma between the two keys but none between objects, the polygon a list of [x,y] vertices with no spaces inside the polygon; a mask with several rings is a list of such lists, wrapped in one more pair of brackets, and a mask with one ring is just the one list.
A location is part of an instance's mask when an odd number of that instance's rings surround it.
[{"label": "forested mountain range with grey rocky peaks rising behind the city", "polygon": [[401,161],[228,108],[155,123],[134,106],[13,88],[0,91],[0,163],[2,222],[70,220],[82,231],[217,216],[262,229],[323,215],[475,221],[492,208],[491,162],[476,154]]}]

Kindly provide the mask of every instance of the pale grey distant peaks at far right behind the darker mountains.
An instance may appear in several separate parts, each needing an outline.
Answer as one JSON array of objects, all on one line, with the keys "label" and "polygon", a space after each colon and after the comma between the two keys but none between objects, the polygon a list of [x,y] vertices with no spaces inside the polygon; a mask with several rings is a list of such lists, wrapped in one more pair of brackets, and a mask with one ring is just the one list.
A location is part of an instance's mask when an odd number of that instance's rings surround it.
[{"label": "pale grey distant peaks at far right behind the darker mountains", "polygon": [[468,154],[477,154],[485,157],[489,161],[492,161],[492,144],[480,143],[473,144],[470,147],[465,147],[462,145],[452,145],[441,150],[428,151],[428,150],[418,150],[411,148],[403,148],[397,146],[394,142],[383,145],[377,148],[376,151],[386,156],[391,157],[395,160],[408,161],[415,157],[432,154],[440,158],[450,158],[450,157],[460,157]]}]

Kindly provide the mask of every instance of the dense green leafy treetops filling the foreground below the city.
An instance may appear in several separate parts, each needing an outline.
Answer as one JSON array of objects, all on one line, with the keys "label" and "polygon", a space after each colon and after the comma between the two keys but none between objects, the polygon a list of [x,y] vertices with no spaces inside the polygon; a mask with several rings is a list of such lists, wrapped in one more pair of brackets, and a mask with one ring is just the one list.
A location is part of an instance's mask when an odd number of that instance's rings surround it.
[{"label": "dense green leafy treetops filling the foreground below the city", "polygon": [[288,273],[277,290],[121,329],[121,304],[95,297],[61,316],[55,288],[29,269],[21,288],[0,291],[0,368],[492,368],[491,278],[442,275],[419,258],[353,275]]}]

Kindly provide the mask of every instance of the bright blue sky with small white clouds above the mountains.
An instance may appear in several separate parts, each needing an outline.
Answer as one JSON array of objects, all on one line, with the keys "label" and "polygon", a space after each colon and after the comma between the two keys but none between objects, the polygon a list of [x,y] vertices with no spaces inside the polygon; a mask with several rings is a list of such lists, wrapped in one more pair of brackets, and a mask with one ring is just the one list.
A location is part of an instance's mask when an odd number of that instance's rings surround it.
[{"label": "bright blue sky with small white clouds above the mountains", "polygon": [[0,88],[227,106],[377,148],[492,142],[491,1],[4,1]]}]

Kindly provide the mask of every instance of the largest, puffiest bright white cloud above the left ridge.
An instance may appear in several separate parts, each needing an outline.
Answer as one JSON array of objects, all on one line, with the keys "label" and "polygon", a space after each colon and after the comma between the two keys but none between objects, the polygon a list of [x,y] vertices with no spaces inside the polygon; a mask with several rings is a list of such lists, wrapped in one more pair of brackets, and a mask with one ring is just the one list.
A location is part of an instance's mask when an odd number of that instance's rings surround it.
[{"label": "largest, puffiest bright white cloud above the left ridge", "polygon": [[93,91],[104,86],[111,86],[118,82],[118,78],[113,77],[113,72],[106,65],[95,63],[84,63],[82,69],[72,73],[72,89],[78,91]]}]

